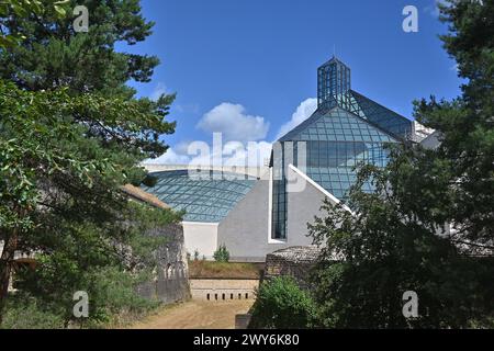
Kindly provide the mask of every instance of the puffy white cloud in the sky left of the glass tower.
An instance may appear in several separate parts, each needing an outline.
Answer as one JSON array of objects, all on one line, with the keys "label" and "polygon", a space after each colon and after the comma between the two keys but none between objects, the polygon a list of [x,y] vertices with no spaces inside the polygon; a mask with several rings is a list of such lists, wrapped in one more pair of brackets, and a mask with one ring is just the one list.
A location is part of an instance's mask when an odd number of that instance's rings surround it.
[{"label": "puffy white cloud in the sky left of the glass tower", "polygon": [[257,141],[266,138],[269,123],[249,115],[240,104],[224,102],[204,114],[198,127],[207,133],[222,133],[225,141]]}]

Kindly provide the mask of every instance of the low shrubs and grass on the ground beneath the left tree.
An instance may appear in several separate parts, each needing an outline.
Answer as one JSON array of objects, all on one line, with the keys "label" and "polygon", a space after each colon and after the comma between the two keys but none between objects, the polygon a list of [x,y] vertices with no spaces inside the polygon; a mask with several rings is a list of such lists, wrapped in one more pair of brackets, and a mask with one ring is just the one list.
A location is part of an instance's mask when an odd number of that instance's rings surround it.
[{"label": "low shrubs and grass on the ground beneath the left tree", "polygon": [[[55,257],[40,257],[37,270],[18,272],[15,286],[20,290],[7,308],[2,328],[104,328],[138,319],[159,305],[136,291],[136,286],[149,281],[147,271],[131,273],[119,267],[104,267],[68,274],[63,263]],[[55,267],[66,273],[57,274]],[[89,318],[77,319],[72,315],[76,291],[89,295]]]}]

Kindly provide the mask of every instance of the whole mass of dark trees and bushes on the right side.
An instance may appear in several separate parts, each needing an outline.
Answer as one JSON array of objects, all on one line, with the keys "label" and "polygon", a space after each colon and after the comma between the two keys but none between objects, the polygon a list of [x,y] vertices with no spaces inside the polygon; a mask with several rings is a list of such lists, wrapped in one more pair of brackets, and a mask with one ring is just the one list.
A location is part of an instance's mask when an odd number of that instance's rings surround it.
[{"label": "whole mass of dark trees and bushes on the right side", "polygon": [[[448,2],[441,38],[468,83],[452,102],[415,103],[441,144],[390,148],[386,168],[359,170],[352,213],[326,202],[327,216],[310,226],[324,248],[313,276],[323,327],[492,327],[494,3]],[[418,318],[402,315],[406,291],[418,294]]]}]

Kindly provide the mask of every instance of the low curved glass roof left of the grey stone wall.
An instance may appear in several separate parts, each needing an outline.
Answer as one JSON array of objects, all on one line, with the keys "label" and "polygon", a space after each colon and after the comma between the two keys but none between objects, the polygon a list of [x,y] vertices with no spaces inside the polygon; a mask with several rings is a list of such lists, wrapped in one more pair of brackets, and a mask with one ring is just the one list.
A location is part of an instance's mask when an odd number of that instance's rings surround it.
[{"label": "low curved glass roof left of the grey stone wall", "polygon": [[170,205],[184,211],[186,222],[220,223],[252,189],[257,179],[220,171],[188,170],[151,173],[153,188],[143,189]]}]

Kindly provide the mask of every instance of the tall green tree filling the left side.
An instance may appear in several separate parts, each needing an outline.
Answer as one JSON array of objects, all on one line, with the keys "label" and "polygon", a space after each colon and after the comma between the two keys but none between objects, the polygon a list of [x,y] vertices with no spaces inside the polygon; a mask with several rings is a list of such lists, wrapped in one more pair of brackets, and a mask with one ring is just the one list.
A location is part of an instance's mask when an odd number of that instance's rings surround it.
[{"label": "tall green tree filling the left side", "polygon": [[[88,33],[74,31],[77,4],[89,10]],[[165,152],[161,136],[175,131],[166,121],[173,95],[135,99],[126,86],[149,81],[158,59],[115,50],[119,42],[144,41],[151,26],[137,0],[2,8],[0,318],[16,251],[38,258],[36,276],[21,284],[25,292],[68,307],[74,288],[97,291],[89,272],[132,271],[136,263],[121,248],[149,253],[151,242],[141,240],[146,228],[178,219],[143,212],[120,192],[148,180],[138,163]]]}]

